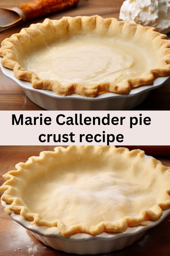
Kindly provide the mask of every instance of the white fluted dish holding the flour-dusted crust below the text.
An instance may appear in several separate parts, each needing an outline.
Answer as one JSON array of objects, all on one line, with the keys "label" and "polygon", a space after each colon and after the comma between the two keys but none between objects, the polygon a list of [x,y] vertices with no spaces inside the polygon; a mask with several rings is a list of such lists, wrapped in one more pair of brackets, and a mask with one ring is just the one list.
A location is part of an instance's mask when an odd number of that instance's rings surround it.
[{"label": "white fluted dish holding the flour-dusted crust below the text", "polygon": [[[7,207],[7,203],[1,200],[2,206]],[[101,233],[100,235],[92,236],[85,233],[71,235],[68,238],[58,235],[57,228],[54,228],[53,233],[49,233],[45,226],[31,225],[28,220],[21,215],[11,213],[11,218],[22,225],[27,230],[45,245],[48,245],[56,250],[65,251],[76,254],[99,254],[108,253],[111,251],[121,250],[135,241],[139,240],[149,228],[152,228],[162,222],[170,214],[170,209],[164,210],[162,216],[156,221],[149,221],[146,226],[137,226],[127,228],[123,233]]]}]

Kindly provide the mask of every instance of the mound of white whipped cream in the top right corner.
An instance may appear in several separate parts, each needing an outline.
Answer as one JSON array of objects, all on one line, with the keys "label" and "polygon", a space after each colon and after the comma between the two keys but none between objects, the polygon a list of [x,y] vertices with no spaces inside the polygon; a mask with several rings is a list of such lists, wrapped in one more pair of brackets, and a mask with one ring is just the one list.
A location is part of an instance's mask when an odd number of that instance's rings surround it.
[{"label": "mound of white whipped cream in the top right corner", "polygon": [[158,32],[167,34],[170,31],[170,0],[126,0],[119,18],[155,27]]}]

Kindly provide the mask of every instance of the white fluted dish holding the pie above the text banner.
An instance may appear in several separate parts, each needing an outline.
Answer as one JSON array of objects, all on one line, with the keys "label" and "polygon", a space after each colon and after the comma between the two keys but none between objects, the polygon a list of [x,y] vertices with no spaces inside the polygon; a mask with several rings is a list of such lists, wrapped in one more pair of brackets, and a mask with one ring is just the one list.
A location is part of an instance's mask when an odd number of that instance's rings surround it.
[{"label": "white fluted dish holding the pie above the text banner", "polygon": [[78,94],[59,96],[53,91],[34,89],[30,82],[14,77],[13,70],[2,64],[0,67],[6,77],[23,88],[31,101],[46,110],[129,110],[142,103],[151,90],[161,87],[170,77],[157,77],[153,84],[134,88],[129,94],[104,93],[93,98]]}]

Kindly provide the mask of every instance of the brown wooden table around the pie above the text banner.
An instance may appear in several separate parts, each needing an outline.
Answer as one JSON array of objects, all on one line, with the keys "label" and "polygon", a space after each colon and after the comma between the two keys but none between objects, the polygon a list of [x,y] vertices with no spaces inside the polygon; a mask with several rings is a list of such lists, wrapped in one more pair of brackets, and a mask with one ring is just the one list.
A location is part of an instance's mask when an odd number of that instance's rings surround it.
[{"label": "brown wooden table around the pie above the text banner", "polygon": [[[0,6],[17,6],[29,0],[0,0]],[[77,8],[48,15],[48,18],[59,19],[62,16],[77,15],[101,15],[104,18],[119,17],[119,10],[123,0],[80,0]],[[28,27],[31,23],[42,22],[44,18],[38,18],[25,24],[17,25],[7,31],[0,33],[0,42],[11,34],[17,33],[23,27]],[[164,86],[153,90],[150,96],[135,110],[170,110],[170,82]],[[15,82],[5,77],[0,71],[0,110],[42,110],[34,104]]]}]

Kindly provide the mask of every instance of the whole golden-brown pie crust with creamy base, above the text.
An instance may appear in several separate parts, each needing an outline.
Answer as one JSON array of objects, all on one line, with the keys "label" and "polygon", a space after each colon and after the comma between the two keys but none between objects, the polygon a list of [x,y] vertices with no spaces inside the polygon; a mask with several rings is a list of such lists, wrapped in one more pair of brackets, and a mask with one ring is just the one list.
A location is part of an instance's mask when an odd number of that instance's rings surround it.
[{"label": "whole golden-brown pie crust with creamy base, above the text", "polygon": [[45,19],[2,41],[2,65],[33,88],[95,97],[170,75],[170,42],[155,28],[98,15]]}]

